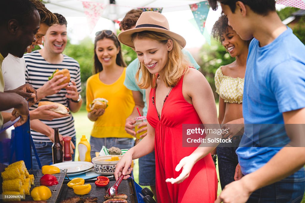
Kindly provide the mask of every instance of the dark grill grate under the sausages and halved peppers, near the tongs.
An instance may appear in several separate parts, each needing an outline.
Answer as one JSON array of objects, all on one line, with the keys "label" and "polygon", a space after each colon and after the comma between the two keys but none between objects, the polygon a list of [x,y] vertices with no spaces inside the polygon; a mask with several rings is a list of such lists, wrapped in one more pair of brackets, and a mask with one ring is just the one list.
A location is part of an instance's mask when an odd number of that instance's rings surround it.
[{"label": "dark grill grate under the sausages and halved peppers, near the tongs", "polygon": [[[127,202],[128,203],[136,203],[136,195],[135,195],[135,189],[133,186],[133,180],[131,178],[128,178],[127,180],[122,180],[120,183],[120,186],[118,188],[119,194],[126,194],[127,195]],[[73,196],[79,196],[80,198],[88,198],[88,197],[97,197],[98,202],[102,203],[105,201],[105,194],[107,192],[107,189],[114,185],[116,182],[115,179],[110,179],[109,184],[106,187],[96,187],[95,180],[85,180],[85,184],[90,183],[91,184],[91,191],[88,194],[85,195],[77,195],[74,194],[74,191],[72,188],[67,186],[67,183],[69,181],[64,181],[63,187],[59,193],[59,197],[57,202],[63,201],[67,198],[73,197]]]}]

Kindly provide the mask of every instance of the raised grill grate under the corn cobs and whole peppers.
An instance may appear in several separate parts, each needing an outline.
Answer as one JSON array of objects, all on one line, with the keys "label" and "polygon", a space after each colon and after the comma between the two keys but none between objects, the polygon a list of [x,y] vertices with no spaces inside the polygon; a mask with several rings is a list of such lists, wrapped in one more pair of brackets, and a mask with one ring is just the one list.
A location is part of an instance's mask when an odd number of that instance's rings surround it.
[{"label": "raised grill grate under the corn cobs and whole peppers", "polygon": [[[34,187],[40,186],[40,178],[43,176],[41,170],[28,170],[30,174],[34,175],[34,185],[31,186],[30,192],[33,190]],[[60,191],[60,188],[63,185],[63,180],[66,176],[67,169],[60,170],[60,173],[53,174],[57,178],[58,184],[48,187],[52,192],[52,196],[47,200],[48,203],[55,203]],[[33,198],[30,195],[25,197],[24,201],[33,201]]]}]

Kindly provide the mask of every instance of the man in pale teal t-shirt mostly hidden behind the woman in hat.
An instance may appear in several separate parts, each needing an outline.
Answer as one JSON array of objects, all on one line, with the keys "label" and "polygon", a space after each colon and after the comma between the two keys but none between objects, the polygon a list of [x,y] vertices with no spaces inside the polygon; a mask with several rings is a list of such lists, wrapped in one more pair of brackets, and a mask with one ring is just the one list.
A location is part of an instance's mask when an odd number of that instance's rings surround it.
[{"label": "man in pale teal t-shirt mostly hidden behind the woman in hat", "polygon": [[[129,30],[135,27],[135,24],[143,11],[141,9],[132,9],[125,15],[124,19],[120,23],[120,30]],[[190,52],[187,50],[182,50],[185,57],[191,62],[190,66],[196,68],[197,70],[200,66],[197,64],[195,59],[192,57]],[[147,104],[145,97],[145,89],[141,89],[135,80],[135,74],[139,69],[139,60],[136,58],[133,60],[126,69],[126,77],[124,85],[132,91],[133,98],[135,100],[135,107],[131,115],[126,119],[125,130],[127,133],[135,136],[134,131],[135,117],[139,116],[137,108],[139,109],[142,116],[147,114]],[[141,74],[139,80],[141,78]],[[141,128],[142,127],[142,128]],[[147,123],[143,122],[138,126],[141,128],[138,133],[147,130]],[[141,135],[140,137],[145,137],[147,133]],[[154,197],[156,197],[156,161],[155,152],[145,155],[139,158],[139,184],[142,186],[150,186]]]}]

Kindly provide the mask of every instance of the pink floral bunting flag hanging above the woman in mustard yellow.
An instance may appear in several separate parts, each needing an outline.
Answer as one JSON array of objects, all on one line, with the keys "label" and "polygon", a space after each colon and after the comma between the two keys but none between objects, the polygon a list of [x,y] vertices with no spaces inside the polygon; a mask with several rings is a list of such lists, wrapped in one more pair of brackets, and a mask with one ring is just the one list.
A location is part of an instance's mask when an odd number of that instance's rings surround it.
[{"label": "pink floral bunting flag hanging above the woman in mustard yellow", "polygon": [[98,2],[82,2],[82,3],[91,33],[97,21],[102,16],[104,6],[102,3],[98,3]]}]

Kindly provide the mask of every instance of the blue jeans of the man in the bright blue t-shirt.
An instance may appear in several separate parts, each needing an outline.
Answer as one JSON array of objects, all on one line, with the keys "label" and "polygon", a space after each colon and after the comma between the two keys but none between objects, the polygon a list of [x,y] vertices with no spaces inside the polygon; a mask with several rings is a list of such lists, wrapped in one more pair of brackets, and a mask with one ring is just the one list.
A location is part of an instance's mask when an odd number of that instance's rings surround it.
[{"label": "blue jeans of the man in the bright blue t-shirt", "polygon": [[305,191],[304,168],[287,178],[254,191],[248,203],[301,202]]}]

